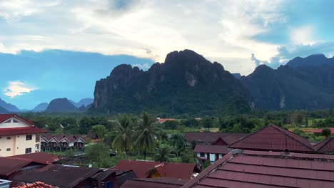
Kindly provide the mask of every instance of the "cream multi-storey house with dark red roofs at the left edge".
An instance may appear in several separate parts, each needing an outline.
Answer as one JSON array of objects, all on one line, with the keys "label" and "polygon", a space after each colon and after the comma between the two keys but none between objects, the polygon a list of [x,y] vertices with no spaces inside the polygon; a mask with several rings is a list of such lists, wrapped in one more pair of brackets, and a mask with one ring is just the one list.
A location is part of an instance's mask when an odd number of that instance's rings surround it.
[{"label": "cream multi-storey house with dark red roofs at the left edge", "polygon": [[0,157],[40,152],[39,134],[47,132],[16,114],[0,115]]}]

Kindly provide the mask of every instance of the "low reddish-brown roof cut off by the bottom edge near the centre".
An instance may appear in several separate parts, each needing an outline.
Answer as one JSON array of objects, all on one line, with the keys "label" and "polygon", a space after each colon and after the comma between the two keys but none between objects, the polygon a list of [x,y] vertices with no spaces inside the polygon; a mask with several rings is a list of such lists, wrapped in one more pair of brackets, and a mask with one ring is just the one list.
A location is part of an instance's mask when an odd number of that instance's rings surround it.
[{"label": "low reddish-brown roof cut off by the bottom edge near the centre", "polygon": [[171,177],[128,179],[121,188],[178,188],[188,181]]}]

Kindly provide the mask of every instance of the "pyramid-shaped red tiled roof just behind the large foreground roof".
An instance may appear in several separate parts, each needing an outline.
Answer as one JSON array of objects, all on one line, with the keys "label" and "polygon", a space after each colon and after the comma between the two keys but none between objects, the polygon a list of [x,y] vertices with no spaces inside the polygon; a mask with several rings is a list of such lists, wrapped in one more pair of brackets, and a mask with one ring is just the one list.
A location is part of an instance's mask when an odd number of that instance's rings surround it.
[{"label": "pyramid-shaped red tiled roof just behind the large foreground roof", "polygon": [[242,150],[283,151],[287,149],[290,152],[314,152],[307,139],[273,124],[243,137],[228,147]]}]

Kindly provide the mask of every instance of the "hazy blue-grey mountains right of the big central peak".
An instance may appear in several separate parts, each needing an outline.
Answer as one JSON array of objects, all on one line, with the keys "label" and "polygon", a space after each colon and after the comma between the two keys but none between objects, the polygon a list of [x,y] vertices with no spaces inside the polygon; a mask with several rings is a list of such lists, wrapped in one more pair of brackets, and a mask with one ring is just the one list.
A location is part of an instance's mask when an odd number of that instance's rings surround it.
[{"label": "hazy blue-grey mountains right of the big central peak", "polygon": [[[334,66],[324,56],[295,58],[273,69],[258,66],[241,78],[256,109],[315,110],[334,107]],[[297,63],[298,62],[298,63]],[[323,62],[323,63],[319,63]]]}]

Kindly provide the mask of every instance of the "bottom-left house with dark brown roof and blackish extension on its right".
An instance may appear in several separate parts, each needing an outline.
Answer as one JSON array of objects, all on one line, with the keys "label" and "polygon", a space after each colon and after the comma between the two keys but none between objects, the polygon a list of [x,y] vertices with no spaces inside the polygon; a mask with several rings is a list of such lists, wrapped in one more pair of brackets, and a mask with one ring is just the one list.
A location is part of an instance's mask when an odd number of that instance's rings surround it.
[{"label": "bottom-left house with dark brown roof and blackish extension on its right", "polygon": [[[124,175],[126,174],[126,175]],[[55,178],[56,177],[56,178]],[[112,169],[98,169],[90,167],[74,167],[66,165],[49,164],[41,169],[25,172],[15,176],[14,184],[44,182],[56,187],[120,187],[117,178],[136,178],[133,172],[119,172]],[[121,180],[126,182],[127,179]]]}]

